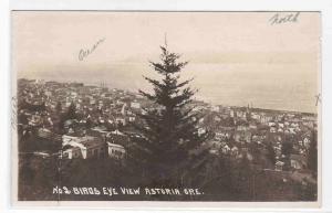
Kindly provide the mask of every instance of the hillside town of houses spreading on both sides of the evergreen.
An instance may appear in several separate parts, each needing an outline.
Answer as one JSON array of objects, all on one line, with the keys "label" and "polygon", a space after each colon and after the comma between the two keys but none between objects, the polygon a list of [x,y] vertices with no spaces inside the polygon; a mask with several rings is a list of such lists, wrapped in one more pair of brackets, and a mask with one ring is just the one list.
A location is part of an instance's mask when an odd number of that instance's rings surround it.
[{"label": "hillside town of houses spreading on both sides of the evergreen", "polygon": [[[129,141],[142,137],[134,128],[144,125],[139,115],[158,109],[138,93],[104,84],[20,78],[17,94],[19,153],[33,152],[42,159],[56,156],[123,162]],[[317,114],[201,100],[191,105],[200,115],[193,118],[199,119],[198,134],[210,132],[201,149],[234,161],[246,158],[259,170],[280,174],[283,181],[317,184],[308,172],[310,149],[317,143]],[[35,135],[33,145],[25,141],[31,135]],[[317,152],[317,147],[313,149]]]}]

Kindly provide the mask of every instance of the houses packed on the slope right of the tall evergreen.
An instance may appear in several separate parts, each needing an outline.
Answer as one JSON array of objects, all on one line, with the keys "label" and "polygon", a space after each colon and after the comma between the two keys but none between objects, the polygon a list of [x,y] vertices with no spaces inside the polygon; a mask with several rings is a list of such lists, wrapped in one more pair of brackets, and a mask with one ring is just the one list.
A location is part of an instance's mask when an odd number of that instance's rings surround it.
[{"label": "houses packed on the slope right of the tall evergreen", "polygon": [[[314,114],[256,109],[249,106],[211,106],[199,124],[199,132],[206,132],[207,128],[214,132],[209,141],[211,153],[248,157],[252,160],[249,147],[257,147],[260,155],[264,156],[268,145],[272,146],[276,159],[272,168],[277,171],[282,171],[287,162],[293,170],[308,167],[312,131],[317,130]],[[291,143],[289,156],[282,153],[284,142]]]}]

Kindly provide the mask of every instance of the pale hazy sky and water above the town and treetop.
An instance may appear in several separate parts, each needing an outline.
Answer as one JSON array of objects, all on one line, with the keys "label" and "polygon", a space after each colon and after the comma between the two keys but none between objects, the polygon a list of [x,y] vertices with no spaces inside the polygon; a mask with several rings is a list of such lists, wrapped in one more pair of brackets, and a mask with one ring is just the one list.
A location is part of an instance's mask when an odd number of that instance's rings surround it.
[{"label": "pale hazy sky and water above the town and treetop", "polygon": [[[215,105],[317,113],[320,13],[271,24],[294,12],[12,12],[18,77],[105,83],[151,90],[159,45],[188,61],[196,98]],[[100,42],[98,42],[100,41]],[[92,50],[82,61],[81,50]]]}]

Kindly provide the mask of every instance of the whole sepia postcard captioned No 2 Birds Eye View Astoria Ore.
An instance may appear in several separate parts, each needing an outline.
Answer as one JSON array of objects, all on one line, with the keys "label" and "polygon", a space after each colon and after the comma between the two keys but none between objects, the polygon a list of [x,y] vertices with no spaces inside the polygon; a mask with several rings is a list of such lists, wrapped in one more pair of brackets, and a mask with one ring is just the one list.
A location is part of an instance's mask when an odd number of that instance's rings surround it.
[{"label": "whole sepia postcard captioned No 2 Birds Eye View Astoria Ore", "polygon": [[320,13],[12,13],[18,201],[318,202]]}]

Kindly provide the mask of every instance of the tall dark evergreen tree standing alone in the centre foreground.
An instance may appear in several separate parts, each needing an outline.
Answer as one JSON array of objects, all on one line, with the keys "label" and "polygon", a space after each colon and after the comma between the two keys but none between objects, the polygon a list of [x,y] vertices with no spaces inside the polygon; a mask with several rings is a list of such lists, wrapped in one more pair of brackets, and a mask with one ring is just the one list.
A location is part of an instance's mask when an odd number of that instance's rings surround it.
[{"label": "tall dark evergreen tree standing alone in the centre foreground", "polygon": [[156,107],[138,115],[145,123],[136,127],[143,137],[133,140],[128,157],[139,166],[146,184],[179,187],[188,183],[186,177],[190,175],[186,174],[204,164],[206,151],[200,145],[208,134],[198,134],[199,115],[193,110],[196,90],[188,85],[191,79],[179,81],[187,62],[178,62],[180,56],[170,53],[167,44],[160,49],[160,62],[151,65],[162,78],[144,77],[154,92],[139,90]]}]

